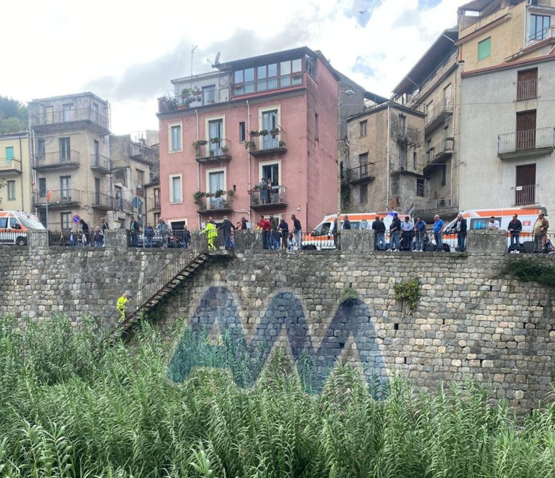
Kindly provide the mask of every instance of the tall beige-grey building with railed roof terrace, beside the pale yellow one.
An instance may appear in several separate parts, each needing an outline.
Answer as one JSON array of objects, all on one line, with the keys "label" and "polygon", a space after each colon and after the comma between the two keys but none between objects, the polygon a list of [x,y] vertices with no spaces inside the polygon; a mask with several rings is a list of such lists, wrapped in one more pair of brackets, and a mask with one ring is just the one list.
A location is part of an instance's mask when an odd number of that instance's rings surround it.
[{"label": "tall beige-grey building with railed roof terrace, beside the pale yellow one", "polygon": [[78,215],[90,228],[114,209],[108,101],[93,93],[33,100],[32,205],[48,227],[67,230]]}]

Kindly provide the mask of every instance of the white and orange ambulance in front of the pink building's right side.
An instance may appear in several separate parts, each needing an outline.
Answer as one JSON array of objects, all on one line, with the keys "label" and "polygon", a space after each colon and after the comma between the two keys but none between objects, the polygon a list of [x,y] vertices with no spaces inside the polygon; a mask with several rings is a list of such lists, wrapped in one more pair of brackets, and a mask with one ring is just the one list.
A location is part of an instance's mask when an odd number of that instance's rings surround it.
[{"label": "white and orange ambulance in front of the pink building's right side", "polygon": [[[361,222],[366,220],[367,229],[371,229],[372,222],[376,220],[376,216],[384,218],[384,224],[386,231],[389,231],[389,226],[393,221],[393,214],[396,211],[386,211],[386,212],[342,212],[340,215],[341,224],[339,229],[343,225],[343,218],[345,215],[349,217],[349,222],[351,223],[351,230],[361,229]],[[399,217],[404,217],[405,215],[399,214]],[[337,218],[337,214],[330,214],[324,217],[324,219],[314,228],[314,231],[307,233],[302,237],[301,249],[304,250],[326,250],[335,249],[334,245],[334,220]]]}]

